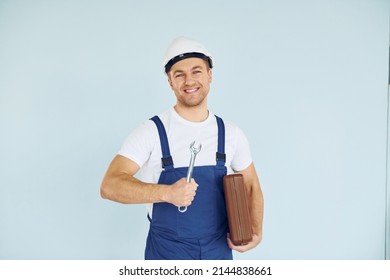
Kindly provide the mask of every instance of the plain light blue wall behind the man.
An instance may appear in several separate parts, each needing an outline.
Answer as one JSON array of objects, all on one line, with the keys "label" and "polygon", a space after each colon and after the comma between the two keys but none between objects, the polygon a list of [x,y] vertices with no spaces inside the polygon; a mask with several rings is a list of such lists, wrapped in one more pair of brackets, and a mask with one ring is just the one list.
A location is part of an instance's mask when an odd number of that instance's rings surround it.
[{"label": "plain light blue wall behind the man", "polygon": [[262,183],[263,242],[235,257],[384,259],[385,0],[1,0],[0,259],[143,258],[144,206],[99,188],[174,104],[179,35],[214,54],[210,109],[246,132]]}]

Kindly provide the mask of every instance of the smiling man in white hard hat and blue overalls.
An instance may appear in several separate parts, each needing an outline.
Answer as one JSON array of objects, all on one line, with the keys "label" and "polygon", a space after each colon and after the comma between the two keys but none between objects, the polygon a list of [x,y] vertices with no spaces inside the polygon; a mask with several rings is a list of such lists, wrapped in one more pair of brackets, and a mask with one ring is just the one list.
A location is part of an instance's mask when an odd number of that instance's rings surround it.
[{"label": "smiling man in white hard hat and blue overalls", "polygon": [[[145,259],[232,259],[232,249],[245,252],[261,241],[263,195],[248,141],[208,110],[212,67],[200,43],[172,42],[164,68],[176,105],[135,129],[104,176],[103,198],[149,205]],[[187,182],[194,140],[202,148]],[[141,179],[134,177],[138,171]],[[252,241],[242,246],[229,238],[222,185],[234,172],[243,174],[253,226]],[[183,206],[187,211],[178,211]]]}]

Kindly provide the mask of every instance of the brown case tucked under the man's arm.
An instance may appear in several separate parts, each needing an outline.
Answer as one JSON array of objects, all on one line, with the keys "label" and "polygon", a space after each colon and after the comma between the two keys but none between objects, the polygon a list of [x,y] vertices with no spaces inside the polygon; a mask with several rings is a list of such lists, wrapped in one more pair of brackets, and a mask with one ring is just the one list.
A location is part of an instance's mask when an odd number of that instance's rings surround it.
[{"label": "brown case tucked under the man's arm", "polygon": [[230,239],[234,245],[244,245],[252,240],[252,220],[242,174],[223,178]]}]

